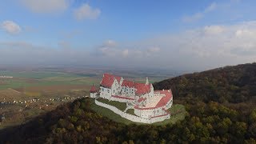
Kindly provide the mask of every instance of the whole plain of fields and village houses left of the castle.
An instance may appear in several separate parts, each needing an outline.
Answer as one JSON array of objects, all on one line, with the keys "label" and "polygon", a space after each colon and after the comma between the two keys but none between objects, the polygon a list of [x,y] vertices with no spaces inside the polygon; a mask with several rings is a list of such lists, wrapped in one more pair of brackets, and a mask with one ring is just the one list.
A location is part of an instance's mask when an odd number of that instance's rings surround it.
[{"label": "whole plain of fields and village houses left of the castle", "polygon": [[0,70],[0,114],[6,126],[27,122],[38,114],[45,113],[63,102],[88,95],[90,85],[100,78],[94,74],[70,74],[50,71]]}]

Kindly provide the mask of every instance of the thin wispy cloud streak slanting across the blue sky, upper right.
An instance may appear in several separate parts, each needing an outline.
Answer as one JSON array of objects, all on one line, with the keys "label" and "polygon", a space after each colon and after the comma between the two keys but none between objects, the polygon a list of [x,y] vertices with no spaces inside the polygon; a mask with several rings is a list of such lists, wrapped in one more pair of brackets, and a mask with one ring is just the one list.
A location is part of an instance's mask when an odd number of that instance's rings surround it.
[{"label": "thin wispy cloud streak slanting across the blue sky, upper right", "polygon": [[198,13],[191,14],[191,15],[186,15],[182,18],[183,22],[195,22],[198,21],[199,19],[203,18],[205,14],[210,13],[211,11],[215,10],[217,8],[217,3],[213,2],[209,6],[205,8],[205,10],[202,10]]}]

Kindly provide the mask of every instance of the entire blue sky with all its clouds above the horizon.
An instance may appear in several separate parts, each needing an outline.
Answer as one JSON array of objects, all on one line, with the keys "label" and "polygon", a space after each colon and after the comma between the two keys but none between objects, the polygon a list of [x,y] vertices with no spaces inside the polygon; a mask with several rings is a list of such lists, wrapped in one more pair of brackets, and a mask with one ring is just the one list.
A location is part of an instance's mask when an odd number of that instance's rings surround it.
[{"label": "entire blue sky with all its clouds above the horizon", "polygon": [[0,0],[1,65],[206,70],[255,62],[255,0]]}]

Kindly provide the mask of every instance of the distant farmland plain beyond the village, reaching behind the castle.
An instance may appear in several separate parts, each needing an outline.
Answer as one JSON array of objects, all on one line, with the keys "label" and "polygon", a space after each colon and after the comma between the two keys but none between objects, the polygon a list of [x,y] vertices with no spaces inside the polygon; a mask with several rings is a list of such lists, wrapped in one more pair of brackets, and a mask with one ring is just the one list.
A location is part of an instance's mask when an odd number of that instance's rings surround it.
[{"label": "distant farmland plain beyond the village, reaching behind the castle", "polygon": [[[102,74],[112,70],[0,70],[0,76],[12,78],[0,78],[0,102],[3,98],[9,100],[22,100],[26,97],[40,98],[46,92],[68,92],[69,90],[90,90],[94,84],[98,86]],[[115,70],[115,74],[133,80],[134,82],[145,82],[146,76],[150,82],[158,82],[167,76],[145,73],[140,71]]]}]

